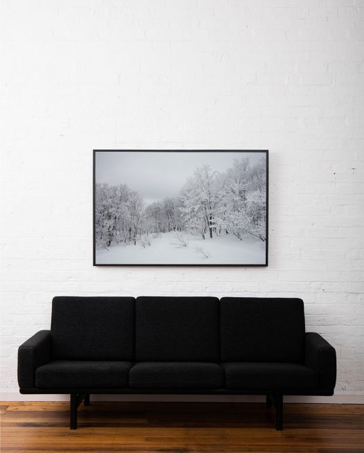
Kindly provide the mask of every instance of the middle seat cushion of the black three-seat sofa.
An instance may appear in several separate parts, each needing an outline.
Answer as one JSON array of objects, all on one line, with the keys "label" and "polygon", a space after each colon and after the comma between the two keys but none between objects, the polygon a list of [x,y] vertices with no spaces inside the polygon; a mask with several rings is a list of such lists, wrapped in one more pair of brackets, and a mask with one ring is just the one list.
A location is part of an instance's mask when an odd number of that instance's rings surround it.
[{"label": "middle seat cushion of the black three-seat sofa", "polygon": [[131,389],[221,389],[224,371],[208,362],[139,362],[129,372]]}]

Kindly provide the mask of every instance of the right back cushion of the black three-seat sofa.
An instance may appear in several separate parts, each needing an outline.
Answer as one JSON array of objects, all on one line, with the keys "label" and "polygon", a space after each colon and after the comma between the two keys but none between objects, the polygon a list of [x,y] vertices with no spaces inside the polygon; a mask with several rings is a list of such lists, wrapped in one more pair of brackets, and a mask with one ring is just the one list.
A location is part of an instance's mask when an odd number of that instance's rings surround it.
[{"label": "right back cushion of the black three-seat sofa", "polygon": [[222,362],[304,362],[301,299],[224,297]]}]

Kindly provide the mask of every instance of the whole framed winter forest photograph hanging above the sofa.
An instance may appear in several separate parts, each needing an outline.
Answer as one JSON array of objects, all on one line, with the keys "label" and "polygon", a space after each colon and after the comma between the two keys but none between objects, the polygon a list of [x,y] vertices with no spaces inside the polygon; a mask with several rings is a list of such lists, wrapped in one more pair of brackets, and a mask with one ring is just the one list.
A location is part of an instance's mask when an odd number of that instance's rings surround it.
[{"label": "whole framed winter forest photograph hanging above the sofa", "polygon": [[268,151],[94,150],[93,265],[268,265]]}]

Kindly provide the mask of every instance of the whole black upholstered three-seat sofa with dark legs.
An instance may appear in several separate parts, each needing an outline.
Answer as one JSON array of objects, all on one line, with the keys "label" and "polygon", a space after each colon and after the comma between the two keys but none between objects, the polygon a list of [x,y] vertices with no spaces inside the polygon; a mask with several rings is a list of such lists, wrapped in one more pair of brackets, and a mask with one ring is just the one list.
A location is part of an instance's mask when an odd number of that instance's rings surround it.
[{"label": "whole black upholstered three-seat sofa with dark legs", "polygon": [[51,330],[19,347],[21,393],[69,393],[70,427],[91,393],[334,393],[335,349],[304,329],[300,299],[55,297]]}]

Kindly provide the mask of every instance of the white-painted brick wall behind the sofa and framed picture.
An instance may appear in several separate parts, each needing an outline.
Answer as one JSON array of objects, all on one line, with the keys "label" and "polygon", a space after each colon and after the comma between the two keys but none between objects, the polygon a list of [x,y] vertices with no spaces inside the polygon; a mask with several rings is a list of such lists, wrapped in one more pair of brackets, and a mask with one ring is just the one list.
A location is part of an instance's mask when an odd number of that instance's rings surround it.
[{"label": "white-painted brick wall behind the sofa and framed picture", "polygon": [[[2,398],[53,296],[162,293],[302,297],[363,398],[364,2],[1,10]],[[269,149],[269,267],[92,267],[93,148]]]}]

